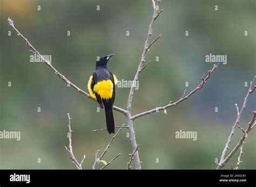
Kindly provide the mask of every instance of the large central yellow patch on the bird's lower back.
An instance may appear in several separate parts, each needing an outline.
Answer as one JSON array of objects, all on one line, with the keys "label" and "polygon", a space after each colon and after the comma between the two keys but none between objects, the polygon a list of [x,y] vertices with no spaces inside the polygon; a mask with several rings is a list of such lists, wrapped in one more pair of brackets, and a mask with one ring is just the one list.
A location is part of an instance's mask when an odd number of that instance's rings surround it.
[{"label": "large central yellow patch on the bird's lower back", "polygon": [[102,99],[110,99],[113,93],[113,83],[110,80],[99,81],[94,85],[93,91]]}]

